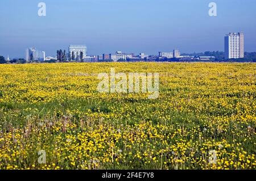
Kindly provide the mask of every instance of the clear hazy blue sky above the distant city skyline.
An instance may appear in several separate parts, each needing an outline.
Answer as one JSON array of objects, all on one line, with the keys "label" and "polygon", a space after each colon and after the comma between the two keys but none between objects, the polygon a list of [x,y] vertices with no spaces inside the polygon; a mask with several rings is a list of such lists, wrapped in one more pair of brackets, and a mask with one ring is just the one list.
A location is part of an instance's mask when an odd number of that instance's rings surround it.
[{"label": "clear hazy blue sky above the distant city skyline", "polygon": [[245,51],[256,52],[255,17],[255,0],[1,0],[0,55],[35,47],[55,56],[70,44],[87,45],[88,54],[224,51],[226,33],[240,31]]}]

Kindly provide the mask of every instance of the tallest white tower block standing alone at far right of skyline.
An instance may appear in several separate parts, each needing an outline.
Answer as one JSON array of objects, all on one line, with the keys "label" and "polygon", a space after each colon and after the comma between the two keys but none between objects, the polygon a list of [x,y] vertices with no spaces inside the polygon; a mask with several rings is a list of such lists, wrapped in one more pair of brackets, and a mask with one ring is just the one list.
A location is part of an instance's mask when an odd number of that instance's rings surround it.
[{"label": "tallest white tower block standing alone at far right of skyline", "polygon": [[225,36],[225,59],[244,58],[244,35],[242,32]]}]

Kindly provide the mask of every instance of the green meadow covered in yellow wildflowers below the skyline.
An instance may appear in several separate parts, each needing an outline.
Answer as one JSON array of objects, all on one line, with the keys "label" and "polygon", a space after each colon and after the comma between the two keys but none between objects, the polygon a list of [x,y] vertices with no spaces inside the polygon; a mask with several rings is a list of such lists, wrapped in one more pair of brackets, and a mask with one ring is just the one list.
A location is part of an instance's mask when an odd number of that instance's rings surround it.
[{"label": "green meadow covered in yellow wildflowers below the skyline", "polygon": [[[97,92],[110,68],[159,98]],[[0,65],[0,169],[256,169],[255,128],[256,64]]]}]

